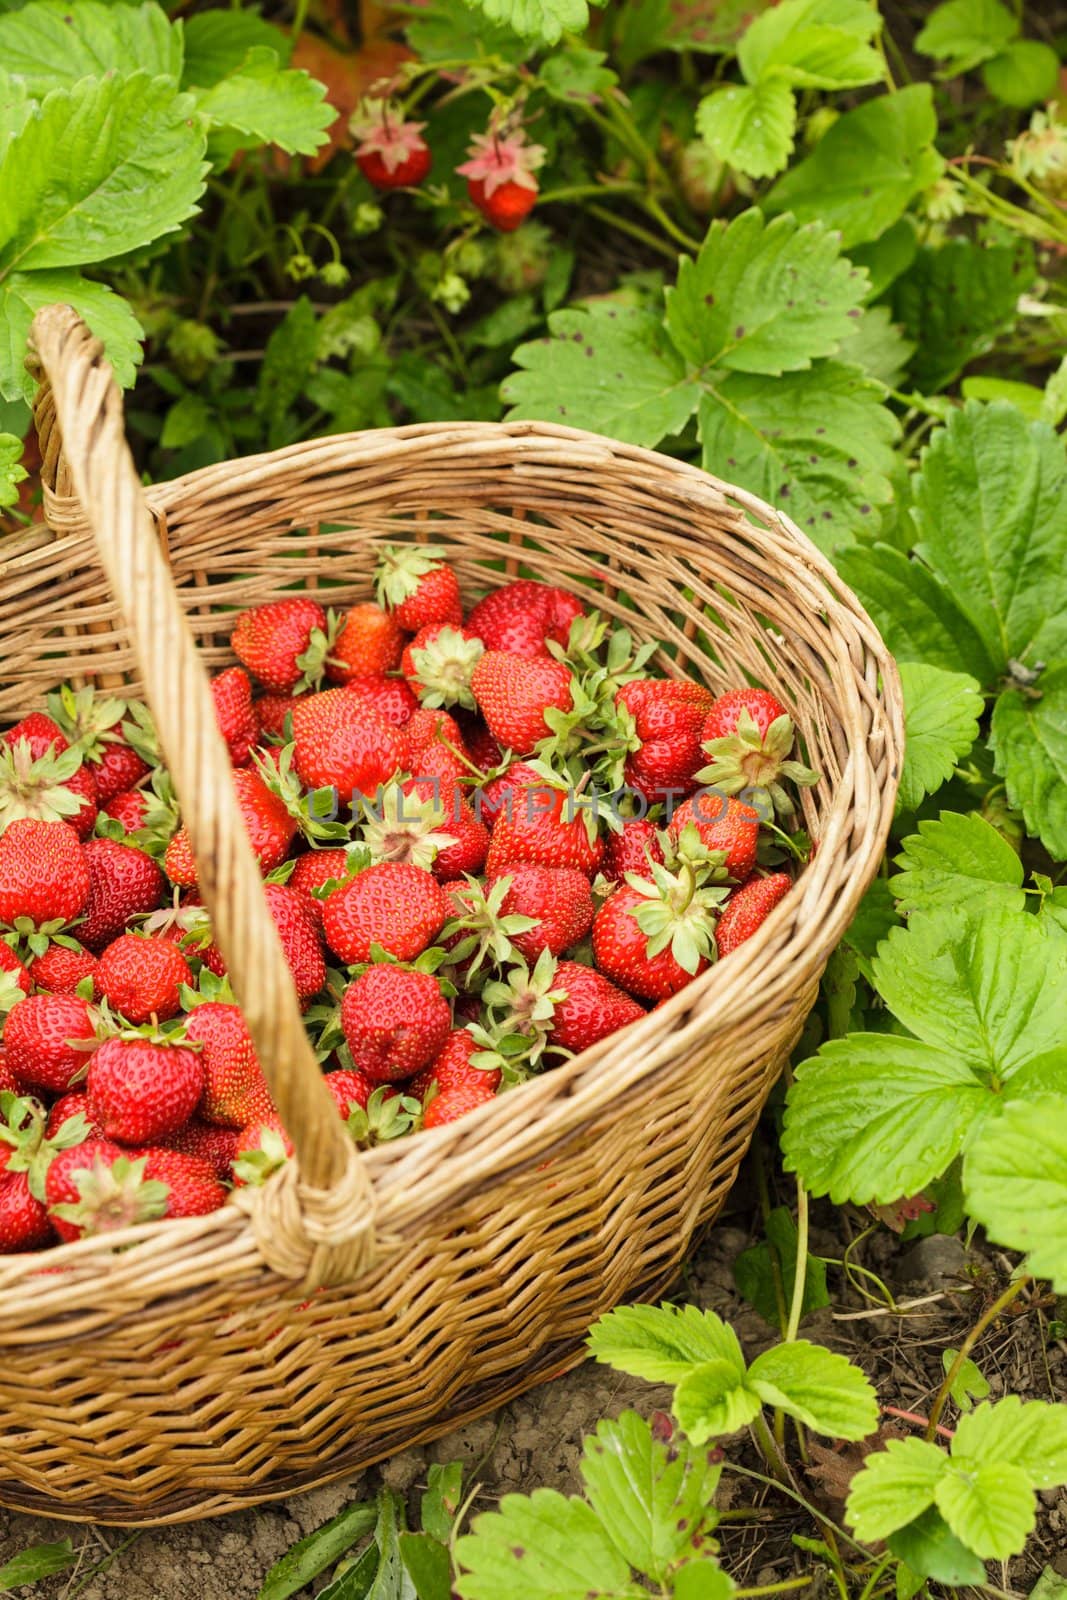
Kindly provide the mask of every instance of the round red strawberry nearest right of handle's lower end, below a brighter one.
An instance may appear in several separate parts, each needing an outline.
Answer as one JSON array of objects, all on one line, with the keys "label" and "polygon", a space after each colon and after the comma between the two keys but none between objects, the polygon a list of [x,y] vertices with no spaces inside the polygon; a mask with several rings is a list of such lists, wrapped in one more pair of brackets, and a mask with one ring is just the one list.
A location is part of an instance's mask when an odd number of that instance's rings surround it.
[{"label": "round red strawberry nearest right of handle's lower end, below a brighter one", "polygon": [[395,1083],[438,1054],[451,1011],[429,973],[376,965],[346,989],[341,1027],[354,1066],[376,1083]]}]

